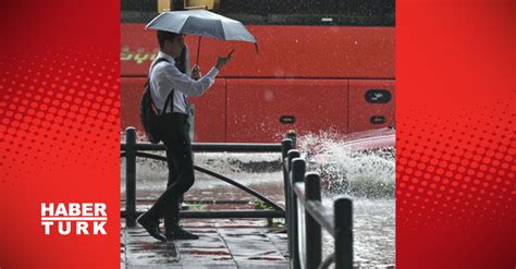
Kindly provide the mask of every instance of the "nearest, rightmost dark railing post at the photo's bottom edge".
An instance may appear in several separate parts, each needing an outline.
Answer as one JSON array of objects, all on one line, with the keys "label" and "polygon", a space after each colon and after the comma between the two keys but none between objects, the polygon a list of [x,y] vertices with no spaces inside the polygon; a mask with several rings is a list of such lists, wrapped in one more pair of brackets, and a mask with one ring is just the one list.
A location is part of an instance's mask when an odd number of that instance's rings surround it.
[{"label": "nearest, rightmost dark railing post at the photo's bottom edge", "polygon": [[353,201],[339,198],[334,201],[335,269],[353,268]]}]

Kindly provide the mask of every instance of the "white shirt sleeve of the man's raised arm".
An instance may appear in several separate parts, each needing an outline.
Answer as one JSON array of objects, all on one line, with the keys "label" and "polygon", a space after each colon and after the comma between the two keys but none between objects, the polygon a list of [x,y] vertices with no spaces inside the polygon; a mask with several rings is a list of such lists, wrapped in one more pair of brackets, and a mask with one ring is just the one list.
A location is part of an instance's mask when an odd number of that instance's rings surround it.
[{"label": "white shirt sleeve of the man's raised arm", "polygon": [[214,78],[219,74],[219,70],[217,68],[212,68],[210,72],[200,77],[198,81],[195,81],[181,73],[181,71],[179,71],[173,64],[168,64],[162,69],[156,70],[155,72],[158,84],[161,84],[160,88],[172,87],[187,96],[201,96],[205,94],[208,88],[213,85]]}]

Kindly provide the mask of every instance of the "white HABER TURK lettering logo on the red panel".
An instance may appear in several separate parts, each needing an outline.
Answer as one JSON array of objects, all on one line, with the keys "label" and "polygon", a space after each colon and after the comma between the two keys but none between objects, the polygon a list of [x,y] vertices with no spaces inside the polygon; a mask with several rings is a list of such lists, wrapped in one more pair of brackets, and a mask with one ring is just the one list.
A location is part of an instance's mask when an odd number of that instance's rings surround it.
[{"label": "white HABER TURK lettering logo on the red panel", "polygon": [[106,235],[103,203],[41,203],[45,234]]}]

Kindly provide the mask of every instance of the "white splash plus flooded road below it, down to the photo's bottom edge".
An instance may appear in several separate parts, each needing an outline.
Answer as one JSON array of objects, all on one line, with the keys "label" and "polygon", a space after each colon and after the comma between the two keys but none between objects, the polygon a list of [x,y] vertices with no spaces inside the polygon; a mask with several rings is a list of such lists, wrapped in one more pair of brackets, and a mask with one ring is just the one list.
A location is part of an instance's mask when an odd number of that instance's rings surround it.
[{"label": "white splash plus flooded road below it, down to the photo's bottom edge", "polygon": [[[353,150],[332,133],[298,138],[307,152],[307,170],[321,174],[322,203],[333,210],[337,196],[353,199],[354,260],[357,267],[395,262],[394,148]],[[323,256],[333,253],[333,237],[323,232]]]}]

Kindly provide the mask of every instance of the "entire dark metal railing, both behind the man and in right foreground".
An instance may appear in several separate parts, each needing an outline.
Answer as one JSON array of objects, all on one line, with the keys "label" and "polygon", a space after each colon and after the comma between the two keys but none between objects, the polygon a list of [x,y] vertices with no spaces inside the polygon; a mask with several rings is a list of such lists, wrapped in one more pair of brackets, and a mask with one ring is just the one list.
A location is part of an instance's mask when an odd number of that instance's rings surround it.
[{"label": "entire dark metal railing, both behind the man and in right foreground", "polygon": [[[261,199],[273,210],[210,210],[181,211],[182,218],[285,218],[288,253],[292,268],[328,268],[335,264],[336,269],[353,268],[353,212],[352,200],[337,198],[333,211],[321,203],[321,185],[318,173],[306,173],[306,161],[296,150],[295,133],[288,133],[280,144],[207,144],[194,143],[194,151],[230,152],[281,152],[285,210],[256,191],[234,180],[205,168],[195,170],[228,182]],[[128,127],[125,144],[121,145],[121,157],[126,159],[126,205],[122,217],[126,225],[133,227],[139,213],[136,211],[136,158],[150,158],[167,161],[167,158],[143,151],[164,150],[164,145],[136,143],[136,131]],[[334,253],[322,260],[322,229],[334,237]]]}]

